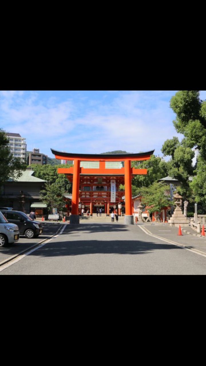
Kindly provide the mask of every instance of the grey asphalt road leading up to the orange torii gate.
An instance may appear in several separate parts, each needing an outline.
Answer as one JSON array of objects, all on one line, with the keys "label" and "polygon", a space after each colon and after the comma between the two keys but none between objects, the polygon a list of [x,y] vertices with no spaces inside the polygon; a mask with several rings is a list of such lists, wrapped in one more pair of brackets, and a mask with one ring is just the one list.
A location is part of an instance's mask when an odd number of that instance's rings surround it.
[{"label": "grey asphalt road leading up to the orange torii gate", "polygon": [[195,249],[206,239],[177,236],[177,228],[84,221],[61,227],[37,250],[0,267],[0,275],[206,275],[206,251]]}]

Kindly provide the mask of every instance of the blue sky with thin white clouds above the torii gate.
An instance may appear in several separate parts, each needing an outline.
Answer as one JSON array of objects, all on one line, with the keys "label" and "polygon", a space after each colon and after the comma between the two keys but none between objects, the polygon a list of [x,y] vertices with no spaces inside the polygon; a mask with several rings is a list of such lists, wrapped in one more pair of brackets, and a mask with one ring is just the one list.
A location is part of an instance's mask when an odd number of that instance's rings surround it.
[{"label": "blue sky with thin white clouds above the torii gate", "polygon": [[[51,148],[70,153],[129,153],[161,148],[179,137],[169,107],[177,90],[1,90],[0,128],[26,138],[54,157]],[[206,91],[200,92],[206,100]]]}]

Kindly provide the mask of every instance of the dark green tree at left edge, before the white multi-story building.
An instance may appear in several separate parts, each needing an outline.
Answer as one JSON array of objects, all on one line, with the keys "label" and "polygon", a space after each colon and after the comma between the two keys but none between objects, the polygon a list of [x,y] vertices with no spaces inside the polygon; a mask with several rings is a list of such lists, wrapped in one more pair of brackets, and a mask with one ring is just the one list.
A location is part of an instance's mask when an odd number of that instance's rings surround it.
[{"label": "dark green tree at left edge, before the white multi-story building", "polygon": [[0,128],[0,187],[10,178],[19,178],[26,170],[26,164],[12,155],[8,143],[5,131]]}]

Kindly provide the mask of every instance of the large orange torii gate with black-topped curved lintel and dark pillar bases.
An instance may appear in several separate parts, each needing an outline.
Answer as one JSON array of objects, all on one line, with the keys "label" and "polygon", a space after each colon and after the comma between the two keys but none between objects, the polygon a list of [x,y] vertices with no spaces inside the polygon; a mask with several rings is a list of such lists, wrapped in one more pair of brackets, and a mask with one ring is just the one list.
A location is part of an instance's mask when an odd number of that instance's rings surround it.
[{"label": "large orange torii gate with black-topped curved lintel and dark pillar bases", "polygon": [[[147,174],[147,169],[131,168],[131,161],[148,160],[154,153],[154,150],[144,153],[136,154],[75,154],[60,152],[51,149],[52,154],[56,159],[61,160],[73,160],[74,165],[70,168],[58,168],[58,173],[73,174],[73,186],[72,186],[72,206],[70,224],[79,224],[78,215],[78,203],[79,203],[79,187],[80,187],[80,174],[88,175],[107,175],[107,174],[120,174],[125,178],[125,224],[133,224],[132,214],[132,175]],[[99,161],[99,168],[83,168],[80,167],[80,161]],[[106,161],[124,161],[124,168],[121,169],[106,169]]]}]

